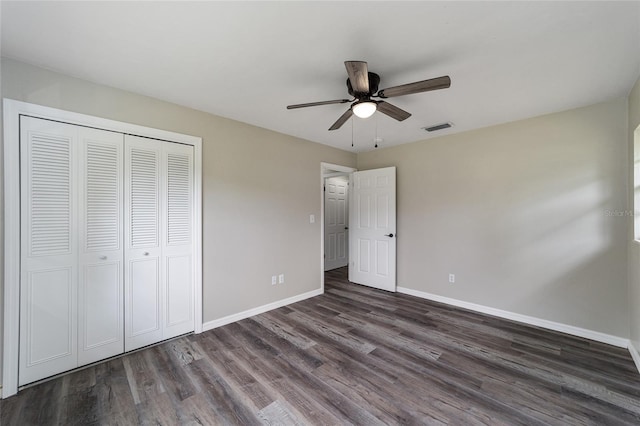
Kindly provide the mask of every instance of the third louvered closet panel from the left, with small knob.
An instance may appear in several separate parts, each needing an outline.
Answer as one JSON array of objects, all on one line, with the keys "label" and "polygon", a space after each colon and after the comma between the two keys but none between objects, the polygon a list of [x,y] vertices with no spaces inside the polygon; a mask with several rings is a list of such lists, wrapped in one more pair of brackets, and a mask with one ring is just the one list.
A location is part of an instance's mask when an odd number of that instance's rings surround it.
[{"label": "third louvered closet panel from the left, with small knob", "polygon": [[125,350],[162,340],[162,141],[125,136]]}]

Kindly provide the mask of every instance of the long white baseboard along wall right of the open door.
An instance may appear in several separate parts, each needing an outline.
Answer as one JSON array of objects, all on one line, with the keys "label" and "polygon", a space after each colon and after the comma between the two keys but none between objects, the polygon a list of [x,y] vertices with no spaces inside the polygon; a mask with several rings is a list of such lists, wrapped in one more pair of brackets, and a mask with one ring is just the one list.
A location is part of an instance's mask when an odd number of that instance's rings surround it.
[{"label": "long white baseboard along wall right of the open door", "polygon": [[[478,305],[470,302],[464,302],[462,300],[452,299],[450,297],[445,297],[445,296],[438,296],[436,294],[431,294],[431,293],[425,293],[423,291],[413,290],[406,287],[398,287],[397,291],[398,293],[409,294],[411,296],[420,297],[421,299],[433,300],[434,302],[445,303],[447,305],[453,305],[459,308],[469,309],[470,311],[493,315],[495,317],[505,318],[508,320],[521,322],[521,323],[533,325],[536,327],[546,328],[549,330],[559,331],[561,333],[571,334],[572,336],[584,337],[585,339],[591,339],[591,340],[595,340],[596,342],[607,343],[609,345],[617,346],[620,348],[626,349],[630,347],[629,339],[613,336],[611,334],[601,333],[599,331],[588,330],[586,328],[575,327],[573,325],[567,325],[567,324],[562,324],[559,322],[549,321],[541,318],[530,317],[528,315],[517,314],[515,312],[503,311],[501,309],[491,308],[489,306]],[[640,365],[638,363],[638,360],[636,360],[635,362],[636,362],[636,365]]]}]

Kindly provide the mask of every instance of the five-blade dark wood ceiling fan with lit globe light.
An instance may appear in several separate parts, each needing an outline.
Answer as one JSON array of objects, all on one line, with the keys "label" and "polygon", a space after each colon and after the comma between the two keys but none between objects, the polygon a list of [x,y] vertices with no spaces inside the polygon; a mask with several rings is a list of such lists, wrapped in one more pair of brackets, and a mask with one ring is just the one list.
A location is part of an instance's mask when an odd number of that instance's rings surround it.
[{"label": "five-blade dark wood ceiling fan with lit globe light", "polygon": [[374,112],[380,111],[398,121],[411,117],[407,111],[398,108],[386,101],[376,101],[371,98],[393,98],[395,96],[411,95],[413,93],[428,92],[431,90],[447,89],[451,86],[451,79],[448,75],[432,78],[429,80],[416,81],[415,83],[393,86],[387,89],[378,90],[380,76],[367,70],[367,63],[363,61],[345,61],[347,68],[347,90],[353,99],[335,99],[332,101],[310,102],[306,104],[288,105],[287,109],[306,108],[318,105],[344,104],[353,102],[349,109],[342,114],[338,121],[329,127],[329,130],[336,130],[356,115],[360,118],[368,118]]}]

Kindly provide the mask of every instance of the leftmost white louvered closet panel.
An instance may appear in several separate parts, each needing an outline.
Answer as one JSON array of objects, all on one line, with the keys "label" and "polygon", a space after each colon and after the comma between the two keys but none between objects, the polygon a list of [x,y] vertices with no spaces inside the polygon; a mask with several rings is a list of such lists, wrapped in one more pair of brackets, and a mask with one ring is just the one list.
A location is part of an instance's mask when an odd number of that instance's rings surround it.
[{"label": "leftmost white louvered closet panel", "polygon": [[78,363],[77,143],[74,126],[20,119],[20,385]]}]

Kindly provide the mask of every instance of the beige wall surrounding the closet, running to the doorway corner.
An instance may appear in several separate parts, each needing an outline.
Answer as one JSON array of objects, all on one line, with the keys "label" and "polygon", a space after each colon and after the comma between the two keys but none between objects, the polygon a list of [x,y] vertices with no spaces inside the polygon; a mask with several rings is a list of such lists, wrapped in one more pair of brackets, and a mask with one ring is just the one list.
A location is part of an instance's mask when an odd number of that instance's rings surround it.
[{"label": "beige wall surrounding the closet, running to the doorway corner", "polygon": [[2,96],[202,137],[204,321],[320,288],[320,163],[355,154],[8,59]]}]

